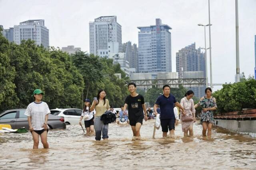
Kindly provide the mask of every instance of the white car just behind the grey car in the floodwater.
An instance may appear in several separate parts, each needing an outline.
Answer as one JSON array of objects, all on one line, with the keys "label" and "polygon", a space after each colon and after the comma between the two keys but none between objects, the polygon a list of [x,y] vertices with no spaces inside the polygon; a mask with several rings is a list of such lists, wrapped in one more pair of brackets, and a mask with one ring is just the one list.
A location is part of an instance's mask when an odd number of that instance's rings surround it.
[{"label": "white car just behind the grey car in the floodwater", "polygon": [[64,122],[67,125],[78,125],[78,122],[82,115],[82,110],[75,109],[75,108],[70,108],[70,109],[56,108],[56,109],[51,109],[50,111],[51,111],[51,114],[53,115],[64,117]]}]

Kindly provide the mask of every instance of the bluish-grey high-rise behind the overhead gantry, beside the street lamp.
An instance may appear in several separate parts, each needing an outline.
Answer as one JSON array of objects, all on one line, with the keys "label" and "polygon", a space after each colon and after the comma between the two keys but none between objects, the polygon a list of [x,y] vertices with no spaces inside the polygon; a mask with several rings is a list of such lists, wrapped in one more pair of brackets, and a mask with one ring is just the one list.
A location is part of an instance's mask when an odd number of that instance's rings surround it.
[{"label": "bluish-grey high-rise behind the overhead gantry, beside the street lamp", "polygon": [[[176,53],[176,71],[179,73],[179,78],[205,78],[205,54],[201,49],[196,49],[196,43],[189,45]],[[201,71],[201,72],[200,72]],[[203,72],[203,75],[202,75]],[[202,87],[191,87],[195,96],[200,98],[204,96]]]}]

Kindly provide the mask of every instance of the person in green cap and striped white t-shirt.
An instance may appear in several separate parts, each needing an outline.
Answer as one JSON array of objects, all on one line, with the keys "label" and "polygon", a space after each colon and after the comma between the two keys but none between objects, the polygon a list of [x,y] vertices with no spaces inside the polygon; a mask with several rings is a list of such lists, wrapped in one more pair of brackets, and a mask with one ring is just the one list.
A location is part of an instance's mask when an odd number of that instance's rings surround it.
[{"label": "person in green cap and striped white t-shirt", "polygon": [[49,148],[47,143],[47,133],[49,127],[47,126],[48,115],[50,109],[45,102],[42,102],[44,92],[40,89],[36,89],[33,92],[34,102],[30,103],[25,111],[25,115],[28,116],[29,130],[32,133],[34,140],[33,149],[38,149],[39,136],[41,138],[44,148]]}]

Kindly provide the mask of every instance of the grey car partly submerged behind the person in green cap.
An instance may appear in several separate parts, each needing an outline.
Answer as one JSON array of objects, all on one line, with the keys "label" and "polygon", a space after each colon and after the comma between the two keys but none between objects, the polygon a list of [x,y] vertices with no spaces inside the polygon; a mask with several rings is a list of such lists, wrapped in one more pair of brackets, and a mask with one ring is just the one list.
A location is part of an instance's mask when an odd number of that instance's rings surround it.
[{"label": "grey car partly submerged behind the person in green cap", "polygon": [[[11,125],[12,129],[25,127],[29,130],[28,116],[25,115],[26,109],[12,109],[0,114],[0,124]],[[66,129],[64,117],[49,114],[47,124],[50,129]]]}]

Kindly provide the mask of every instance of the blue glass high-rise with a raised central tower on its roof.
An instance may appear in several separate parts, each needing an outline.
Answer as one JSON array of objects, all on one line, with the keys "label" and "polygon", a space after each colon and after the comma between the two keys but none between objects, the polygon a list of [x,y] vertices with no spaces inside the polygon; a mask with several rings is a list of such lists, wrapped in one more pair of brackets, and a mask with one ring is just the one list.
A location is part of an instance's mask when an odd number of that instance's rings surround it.
[{"label": "blue glass high-rise with a raised central tower on its roof", "polygon": [[137,27],[138,72],[172,72],[170,26],[156,19],[156,25]]}]

